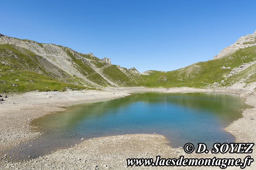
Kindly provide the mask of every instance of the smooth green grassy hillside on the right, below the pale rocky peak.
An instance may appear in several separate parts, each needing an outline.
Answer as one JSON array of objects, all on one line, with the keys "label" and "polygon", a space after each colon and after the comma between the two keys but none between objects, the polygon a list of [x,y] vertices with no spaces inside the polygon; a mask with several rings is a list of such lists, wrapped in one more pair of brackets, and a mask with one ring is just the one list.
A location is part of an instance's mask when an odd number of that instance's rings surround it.
[{"label": "smooth green grassy hillside on the right, below the pale rocky peak", "polygon": [[[233,54],[226,55],[216,60],[194,63],[174,71],[151,71],[149,75],[141,75],[138,80],[147,87],[186,86],[203,88],[214,82],[224,80],[231,69],[252,61],[256,61],[256,46],[238,50]],[[221,69],[223,66],[226,68],[230,67],[231,69]],[[253,70],[253,68],[254,66],[252,66],[251,69]],[[249,72],[250,71],[248,71],[248,73]],[[246,76],[248,73],[244,72],[243,75]],[[239,75],[236,75],[236,77],[238,76]],[[254,77],[255,74],[251,76],[251,78]],[[237,78],[234,77],[233,79],[236,80]]]}]

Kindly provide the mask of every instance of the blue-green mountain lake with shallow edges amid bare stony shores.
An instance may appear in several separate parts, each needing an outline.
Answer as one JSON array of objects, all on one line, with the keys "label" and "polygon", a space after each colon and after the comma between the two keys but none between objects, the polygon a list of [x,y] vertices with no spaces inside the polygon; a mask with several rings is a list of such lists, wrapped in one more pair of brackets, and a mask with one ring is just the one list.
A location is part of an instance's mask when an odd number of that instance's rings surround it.
[{"label": "blue-green mountain lake with shallow edges amid bare stony shores", "polygon": [[33,120],[32,126],[46,133],[18,146],[26,148],[19,157],[33,158],[70,147],[81,142],[82,137],[137,133],[165,135],[173,147],[188,142],[196,146],[200,142],[211,148],[215,142],[234,141],[234,136],[223,128],[242,116],[240,109],[250,108],[244,101],[237,95],[150,92],[75,104],[66,111]]}]

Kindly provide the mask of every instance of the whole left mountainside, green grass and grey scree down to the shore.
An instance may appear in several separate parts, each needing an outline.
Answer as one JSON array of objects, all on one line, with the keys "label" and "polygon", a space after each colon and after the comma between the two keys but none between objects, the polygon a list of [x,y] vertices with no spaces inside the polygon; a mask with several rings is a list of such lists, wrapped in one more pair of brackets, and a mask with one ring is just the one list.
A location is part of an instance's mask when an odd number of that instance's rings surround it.
[{"label": "whole left mountainside, green grass and grey scree down to the shore", "polygon": [[[0,36],[0,62],[2,91],[63,90],[62,86],[49,87],[48,82],[43,82],[44,79],[54,80],[58,85],[67,83],[63,84],[65,87],[73,84],[74,89],[138,85],[136,78],[139,72],[135,68],[112,65],[110,59],[101,60],[92,53],[83,54],[64,46],[5,35]],[[41,82],[41,88],[29,87],[30,82],[24,84],[22,80],[28,79],[27,76],[31,79],[31,75],[37,75],[34,79]]]}]

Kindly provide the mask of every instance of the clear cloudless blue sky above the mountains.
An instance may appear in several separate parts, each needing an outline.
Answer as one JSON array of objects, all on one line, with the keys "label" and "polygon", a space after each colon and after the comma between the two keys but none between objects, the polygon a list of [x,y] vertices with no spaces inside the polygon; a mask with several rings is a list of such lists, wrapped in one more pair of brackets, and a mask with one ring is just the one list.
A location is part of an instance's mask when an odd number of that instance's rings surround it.
[{"label": "clear cloudless blue sky above the mountains", "polygon": [[256,29],[256,1],[1,1],[0,33],[71,47],[126,68],[213,59]]}]

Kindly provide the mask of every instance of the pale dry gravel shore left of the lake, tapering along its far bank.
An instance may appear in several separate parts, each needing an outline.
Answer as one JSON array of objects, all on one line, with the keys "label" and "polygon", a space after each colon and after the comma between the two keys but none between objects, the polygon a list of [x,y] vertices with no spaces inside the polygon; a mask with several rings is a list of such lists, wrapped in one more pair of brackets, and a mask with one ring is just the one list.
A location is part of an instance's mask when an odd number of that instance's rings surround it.
[{"label": "pale dry gravel shore left of the lake, tapering along its far bank", "polygon": [[123,92],[82,90],[67,92],[28,92],[23,95],[6,94],[0,104],[0,151],[10,149],[42,133],[32,132],[31,120],[43,115],[64,111],[69,103],[86,100],[124,97]]}]

